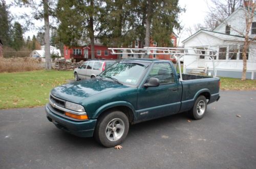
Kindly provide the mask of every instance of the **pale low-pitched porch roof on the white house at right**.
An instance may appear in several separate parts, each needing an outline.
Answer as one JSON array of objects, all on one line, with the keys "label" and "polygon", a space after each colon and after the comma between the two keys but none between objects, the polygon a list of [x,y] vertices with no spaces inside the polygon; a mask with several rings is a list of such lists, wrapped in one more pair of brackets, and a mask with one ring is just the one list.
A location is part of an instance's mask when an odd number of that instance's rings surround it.
[{"label": "pale low-pitched porch roof on the white house at right", "polygon": [[188,41],[189,39],[197,36],[200,33],[206,33],[208,35],[214,36],[216,38],[222,39],[222,40],[228,40],[228,41],[244,41],[244,37],[243,36],[238,36],[238,35],[227,35],[224,33],[220,33],[220,32],[214,32],[214,31],[207,31],[207,30],[199,30],[198,32],[196,32],[195,34],[191,35],[190,37],[188,37],[187,39],[185,39],[184,41],[182,41],[182,43],[185,43],[186,41]]}]

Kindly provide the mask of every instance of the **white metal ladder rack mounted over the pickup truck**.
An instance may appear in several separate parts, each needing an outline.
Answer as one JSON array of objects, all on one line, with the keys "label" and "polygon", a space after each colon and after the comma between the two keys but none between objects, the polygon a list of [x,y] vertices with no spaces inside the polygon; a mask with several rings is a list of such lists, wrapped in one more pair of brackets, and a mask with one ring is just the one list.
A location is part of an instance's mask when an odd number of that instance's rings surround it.
[{"label": "white metal ladder rack mounted over the pickup truck", "polygon": [[141,54],[141,55],[174,55],[178,60],[180,70],[180,80],[182,79],[180,58],[188,57],[189,55],[209,57],[212,61],[214,69],[214,77],[216,77],[214,57],[216,57],[216,50],[196,49],[196,48],[179,48],[179,47],[144,47],[144,48],[108,48],[111,54]]}]

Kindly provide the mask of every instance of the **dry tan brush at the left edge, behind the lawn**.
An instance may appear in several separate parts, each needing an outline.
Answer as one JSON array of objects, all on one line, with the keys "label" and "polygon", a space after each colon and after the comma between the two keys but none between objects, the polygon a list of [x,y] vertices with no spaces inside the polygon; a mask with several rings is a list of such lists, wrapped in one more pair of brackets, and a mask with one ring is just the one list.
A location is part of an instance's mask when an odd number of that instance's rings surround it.
[{"label": "dry tan brush at the left edge, behind the lawn", "polygon": [[38,61],[31,57],[0,58],[0,72],[23,72],[42,69]]}]

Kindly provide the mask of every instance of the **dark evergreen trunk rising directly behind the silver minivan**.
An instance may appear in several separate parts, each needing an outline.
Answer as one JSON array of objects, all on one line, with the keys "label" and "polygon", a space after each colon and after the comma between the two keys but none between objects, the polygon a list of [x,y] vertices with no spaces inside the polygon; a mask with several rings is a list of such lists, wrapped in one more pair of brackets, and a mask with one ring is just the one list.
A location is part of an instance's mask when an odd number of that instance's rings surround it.
[{"label": "dark evergreen trunk rising directly behind the silver minivan", "polygon": [[[93,0],[90,1],[90,6],[92,9],[94,9],[94,2]],[[90,36],[90,40],[91,40],[91,59],[95,59],[95,50],[94,50],[94,28],[93,28],[93,13],[90,14],[90,19],[89,19],[89,36]]]}]

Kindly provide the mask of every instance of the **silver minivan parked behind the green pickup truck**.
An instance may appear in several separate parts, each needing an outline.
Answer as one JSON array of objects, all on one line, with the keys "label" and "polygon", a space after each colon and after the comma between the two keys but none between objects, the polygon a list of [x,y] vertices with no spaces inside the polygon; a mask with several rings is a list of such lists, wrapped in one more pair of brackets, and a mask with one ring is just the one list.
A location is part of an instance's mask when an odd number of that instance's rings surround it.
[{"label": "silver minivan parked behind the green pickup truck", "polygon": [[86,61],[80,67],[74,69],[75,80],[95,78],[98,74],[104,71],[116,61],[108,60],[91,60]]}]

